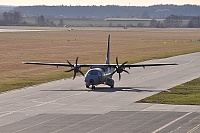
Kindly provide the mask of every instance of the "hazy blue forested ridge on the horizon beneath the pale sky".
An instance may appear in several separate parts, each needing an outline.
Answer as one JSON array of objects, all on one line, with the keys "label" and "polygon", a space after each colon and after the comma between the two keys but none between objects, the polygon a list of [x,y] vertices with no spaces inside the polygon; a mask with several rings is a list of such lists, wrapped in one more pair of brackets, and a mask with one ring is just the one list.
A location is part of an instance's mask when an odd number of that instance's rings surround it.
[{"label": "hazy blue forested ridge on the horizon beneath the pale sky", "polygon": [[177,16],[200,16],[200,6],[197,5],[154,5],[138,6],[20,6],[23,16],[32,17],[44,15],[48,18],[160,18],[173,14]]}]

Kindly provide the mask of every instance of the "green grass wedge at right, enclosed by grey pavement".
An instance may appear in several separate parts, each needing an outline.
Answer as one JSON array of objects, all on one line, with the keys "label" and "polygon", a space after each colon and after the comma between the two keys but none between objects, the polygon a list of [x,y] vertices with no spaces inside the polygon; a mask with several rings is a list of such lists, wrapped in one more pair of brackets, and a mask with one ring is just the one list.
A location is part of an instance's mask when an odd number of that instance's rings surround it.
[{"label": "green grass wedge at right, enclosed by grey pavement", "polygon": [[169,92],[161,92],[159,94],[142,99],[138,102],[200,105],[200,78],[171,88]]}]

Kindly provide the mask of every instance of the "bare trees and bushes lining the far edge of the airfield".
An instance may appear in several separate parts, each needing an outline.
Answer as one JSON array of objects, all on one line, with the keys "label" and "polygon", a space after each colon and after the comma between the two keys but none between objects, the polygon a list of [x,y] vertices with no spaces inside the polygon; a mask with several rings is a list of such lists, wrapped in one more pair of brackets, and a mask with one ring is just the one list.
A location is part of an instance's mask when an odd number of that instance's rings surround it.
[{"label": "bare trees and bushes lining the far edge of the airfield", "polygon": [[[112,24],[112,20],[108,21],[107,27],[153,27],[153,28],[169,28],[169,27],[173,27],[173,28],[200,28],[200,16],[193,16],[190,17],[190,20],[186,22],[183,22],[184,20],[182,20],[182,16],[177,16],[177,15],[170,15],[167,16],[165,19],[163,20],[158,20],[158,19],[148,19],[149,20],[149,25],[146,25],[144,23],[146,23],[146,20],[144,21],[140,21],[138,22],[137,25],[133,25],[131,24],[131,22],[126,25],[125,22],[127,22],[127,20],[124,21],[120,21],[119,23],[121,24],[117,24],[117,25],[113,25]],[[39,15],[39,16],[34,16],[32,17],[32,19],[34,19],[33,23],[28,23],[26,22],[24,19],[24,17],[22,17],[21,13],[18,11],[14,11],[14,12],[4,12],[1,15],[0,18],[0,25],[21,25],[21,26],[52,26],[52,27],[63,27],[66,26],[65,22],[69,21],[69,19],[56,19],[56,23],[54,22],[55,19],[50,19],[45,17],[44,15]],[[76,20],[76,21],[81,21],[81,19]],[[101,22],[105,22],[106,20],[101,20]],[[137,21],[137,20],[135,20]],[[132,20],[132,22],[135,22],[134,20]],[[88,23],[92,22],[88,21]],[[124,22],[124,23],[123,23]],[[123,23],[123,24],[122,24]],[[70,26],[81,26],[81,25],[74,25],[71,24]],[[82,25],[83,26],[83,25]],[[93,27],[92,24],[89,24],[88,26]],[[99,23],[99,25],[96,26],[102,26],[101,23]]]}]

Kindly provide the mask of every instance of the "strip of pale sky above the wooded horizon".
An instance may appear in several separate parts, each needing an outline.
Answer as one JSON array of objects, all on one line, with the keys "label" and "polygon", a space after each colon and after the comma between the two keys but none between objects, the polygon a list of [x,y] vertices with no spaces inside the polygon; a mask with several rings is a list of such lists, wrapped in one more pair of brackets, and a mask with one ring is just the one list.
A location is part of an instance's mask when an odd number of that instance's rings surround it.
[{"label": "strip of pale sky above the wooded horizon", "polygon": [[120,5],[120,6],[149,6],[157,4],[200,5],[200,0],[0,0],[0,5],[29,6],[29,5]]}]

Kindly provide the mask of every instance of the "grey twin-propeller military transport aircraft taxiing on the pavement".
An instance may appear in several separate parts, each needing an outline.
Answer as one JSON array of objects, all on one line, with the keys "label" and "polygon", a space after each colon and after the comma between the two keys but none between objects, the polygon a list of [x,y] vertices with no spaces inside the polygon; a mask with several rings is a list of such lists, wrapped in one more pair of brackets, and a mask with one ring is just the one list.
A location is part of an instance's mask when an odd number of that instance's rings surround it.
[{"label": "grey twin-propeller military transport aircraft taxiing on the pavement", "polygon": [[108,35],[108,47],[107,47],[107,56],[105,64],[78,64],[78,57],[76,58],[75,64],[70,63],[67,60],[67,63],[45,63],[45,62],[23,62],[23,64],[35,64],[35,65],[50,65],[50,66],[64,66],[71,67],[70,70],[66,72],[74,71],[73,79],[76,77],[77,73],[81,73],[84,76],[84,73],[81,71],[81,67],[89,67],[90,69],[85,74],[85,85],[87,88],[92,86],[92,90],[95,89],[95,86],[99,84],[106,84],[111,88],[114,87],[114,80],[112,79],[113,74],[119,74],[119,80],[121,79],[121,73],[126,72],[129,74],[125,68],[130,67],[147,67],[147,66],[163,66],[163,65],[177,65],[169,63],[160,63],[160,64],[123,64],[118,63],[118,57],[116,57],[116,64],[110,64],[110,34]]}]

